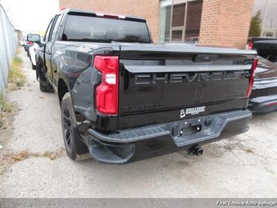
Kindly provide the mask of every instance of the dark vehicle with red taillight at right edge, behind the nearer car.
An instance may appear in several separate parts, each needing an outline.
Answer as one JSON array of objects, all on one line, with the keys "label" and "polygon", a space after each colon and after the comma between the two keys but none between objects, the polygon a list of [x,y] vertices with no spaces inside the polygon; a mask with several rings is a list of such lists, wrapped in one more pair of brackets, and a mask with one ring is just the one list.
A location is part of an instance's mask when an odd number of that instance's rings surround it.
[{"label": "dark vehicle with red taillight at right edge, behind the nearer car", "polygon": [[262,58],[277,63],[277,37],[249,37],[248,49],[256,50]]}]

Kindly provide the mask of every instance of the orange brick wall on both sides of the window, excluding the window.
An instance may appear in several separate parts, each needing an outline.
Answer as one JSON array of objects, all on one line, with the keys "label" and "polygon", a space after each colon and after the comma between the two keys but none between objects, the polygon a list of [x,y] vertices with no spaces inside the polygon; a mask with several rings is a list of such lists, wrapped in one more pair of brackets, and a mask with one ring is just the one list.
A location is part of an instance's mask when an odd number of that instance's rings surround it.
[{"label": "orange brick wall on both sides of the window, excluding the window", "polygon": [[[159,0],[60,0],[64,7],[145,17],[154,42],[159,40]],[[204,0],[199,44],[243,49],[252,8],[253,0]]]}]

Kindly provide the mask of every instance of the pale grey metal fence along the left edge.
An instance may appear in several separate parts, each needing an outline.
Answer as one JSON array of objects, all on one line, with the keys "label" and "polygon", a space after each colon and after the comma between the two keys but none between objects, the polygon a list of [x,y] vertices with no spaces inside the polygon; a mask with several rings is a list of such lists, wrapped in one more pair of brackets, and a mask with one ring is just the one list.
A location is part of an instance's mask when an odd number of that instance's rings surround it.
[{"label": "pale grey metal fence along the left edge", "polygon": [[17,35],[0,4],[0,92],[8,83],[8,70],[17,50]]}]

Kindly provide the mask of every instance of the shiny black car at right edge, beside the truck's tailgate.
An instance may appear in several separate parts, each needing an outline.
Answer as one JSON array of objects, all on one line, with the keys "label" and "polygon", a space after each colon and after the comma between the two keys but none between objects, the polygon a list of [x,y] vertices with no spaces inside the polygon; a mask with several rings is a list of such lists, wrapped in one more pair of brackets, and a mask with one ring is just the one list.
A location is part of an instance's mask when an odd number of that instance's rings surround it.
[{"label": "shiny black car at right edge, beside the truck's tailgate", "polygon": [[254,114],[277,110],[277,65],[260,56],[248,108]]}]

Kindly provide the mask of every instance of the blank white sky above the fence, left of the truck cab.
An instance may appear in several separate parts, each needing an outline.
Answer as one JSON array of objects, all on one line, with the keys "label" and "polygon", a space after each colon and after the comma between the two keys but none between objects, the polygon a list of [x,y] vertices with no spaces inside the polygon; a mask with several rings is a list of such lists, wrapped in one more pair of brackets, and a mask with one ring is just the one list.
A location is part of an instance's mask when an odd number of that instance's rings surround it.
[{"label": "blank white sky above the fence, left of the truck cab", "polygon": [[52,17],[59,12],[59,0],[0,0],[16,29],[26,32],[46,31]]}]

